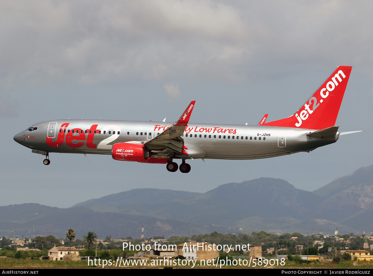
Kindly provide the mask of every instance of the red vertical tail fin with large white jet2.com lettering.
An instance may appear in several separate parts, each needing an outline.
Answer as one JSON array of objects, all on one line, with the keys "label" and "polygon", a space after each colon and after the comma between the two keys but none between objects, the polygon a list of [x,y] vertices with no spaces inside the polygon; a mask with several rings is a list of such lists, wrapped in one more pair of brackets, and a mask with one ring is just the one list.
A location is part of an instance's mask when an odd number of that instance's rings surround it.
[{"label": "red vertical tail fin with large white jet2.com lettering", "polygon": [[294,115],[264,126],[325,129],[335,125],[351,66],[339,66]]}]

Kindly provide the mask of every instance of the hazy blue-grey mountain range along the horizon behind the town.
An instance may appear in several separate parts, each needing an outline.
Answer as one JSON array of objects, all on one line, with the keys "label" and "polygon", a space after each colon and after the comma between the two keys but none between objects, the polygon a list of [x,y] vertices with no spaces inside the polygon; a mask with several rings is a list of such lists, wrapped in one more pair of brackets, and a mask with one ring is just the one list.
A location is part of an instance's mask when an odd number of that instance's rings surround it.
[{"label": "hazy blue-grey mountain range along the horizon behind the town", "polygon": [[258,178],[228,183],[207,191],[133,189],[91,199],[70,208],[25,203],[0,207],[0,235],[77,237],[94,231],[99,237],[190,236],[213,231],[302,234],[362,233],[372,229],[373,166],[313,192],[285,180]]}]

